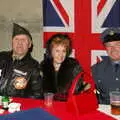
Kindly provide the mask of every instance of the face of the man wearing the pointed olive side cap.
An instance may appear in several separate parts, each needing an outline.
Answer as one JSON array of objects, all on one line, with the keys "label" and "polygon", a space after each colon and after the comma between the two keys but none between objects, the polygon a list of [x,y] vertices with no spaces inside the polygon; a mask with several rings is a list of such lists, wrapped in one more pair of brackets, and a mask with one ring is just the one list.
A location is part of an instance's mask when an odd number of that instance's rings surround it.
[{"label": "face of the man wearing the pointed olive side cap", "polygon": [[31,40],[27,35],[16,35],[12,39],[13,54],[24,56],[31,47]]}]

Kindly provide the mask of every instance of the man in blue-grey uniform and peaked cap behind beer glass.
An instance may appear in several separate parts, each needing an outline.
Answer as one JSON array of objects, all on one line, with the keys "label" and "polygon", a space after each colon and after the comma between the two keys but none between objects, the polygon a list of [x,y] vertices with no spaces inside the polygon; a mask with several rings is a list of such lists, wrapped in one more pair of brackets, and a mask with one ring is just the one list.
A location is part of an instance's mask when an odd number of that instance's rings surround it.
[{"label": "man in blue-grey uniform and peaked cap behind beer glass", "polygon": [[92,66],[100,104],[109,104],[110,91],[120,91],[120,28],[106,29],[101,40],[108,57]]}]

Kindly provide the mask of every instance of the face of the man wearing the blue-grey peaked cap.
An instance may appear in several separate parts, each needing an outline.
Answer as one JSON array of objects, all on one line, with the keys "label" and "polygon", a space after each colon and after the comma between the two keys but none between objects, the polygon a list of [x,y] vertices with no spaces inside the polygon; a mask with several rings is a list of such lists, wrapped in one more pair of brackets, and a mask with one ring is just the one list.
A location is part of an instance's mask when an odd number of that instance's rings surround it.
[{"label": "face of the man wearing the blue-grey peaked cap", "polygon": [[112,41],[105,43],[108,55],[114,61],[120,61],[120,41]]}]

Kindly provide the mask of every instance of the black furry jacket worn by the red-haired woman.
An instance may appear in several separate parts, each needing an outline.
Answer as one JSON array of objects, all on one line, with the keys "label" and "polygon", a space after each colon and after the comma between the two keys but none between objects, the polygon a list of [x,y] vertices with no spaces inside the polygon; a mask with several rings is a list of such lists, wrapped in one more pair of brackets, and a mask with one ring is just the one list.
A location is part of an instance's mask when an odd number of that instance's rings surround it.
[{"label": "black furry jacket worn by the red-haired woman", "polygon": [[[49,59],[41,62],[41,69],[43,71],[43,91],[62,94],[67,94],[72,80],[82,71],[78,61],[74,58],[66,58],[57,73]],[[81,83],[82,79],[79,84]]]}]

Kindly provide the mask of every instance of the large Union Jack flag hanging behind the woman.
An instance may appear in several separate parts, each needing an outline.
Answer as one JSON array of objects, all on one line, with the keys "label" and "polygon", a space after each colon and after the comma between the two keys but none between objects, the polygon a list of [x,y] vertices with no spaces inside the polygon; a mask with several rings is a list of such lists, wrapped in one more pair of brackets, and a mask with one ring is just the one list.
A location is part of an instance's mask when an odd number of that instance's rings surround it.
[{"label": "large Union Jack flag hanging behind the woman", "polygon": [[43,0],[43,17],[44,45],[54,33],[69,34],[75,57],[89,71],[107,55],[100,33],[120,26],[120,0]]}]

